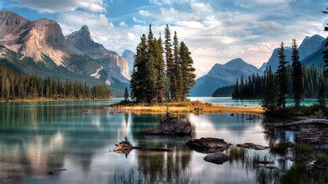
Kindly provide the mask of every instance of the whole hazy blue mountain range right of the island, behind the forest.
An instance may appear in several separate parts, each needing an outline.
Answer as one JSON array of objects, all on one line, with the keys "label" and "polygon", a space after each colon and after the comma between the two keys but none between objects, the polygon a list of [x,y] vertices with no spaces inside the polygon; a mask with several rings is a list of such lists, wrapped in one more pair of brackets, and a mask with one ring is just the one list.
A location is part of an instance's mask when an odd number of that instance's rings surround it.
[{"label": "whole hazy blue mountain range right of the island, behind the forest", "polygon": [[[305,37],[302,44],[299,46],[300,61],[308,67],[312,65],[321,68],[322,50],[325,47],[325,38],[320,35],[313,35],[312,37]],[[252,73],[262,74],[267,66],[271,66],[273,71],[276,71],[278,66],[278,50],[275,48],[268,62],[264,62],[262,66],[257,69],[251,64],[247,64],[244,60],[237,58],[226,64],[215,64],[203,77],[196,80],[195,86],[190,93],[191,96],[210,96],[215,89],[222,86],[230,86],[235,84],[236,79],[244,75],[244,79]],[[284,48],[286,61],[291,64],[291,47]]]}]

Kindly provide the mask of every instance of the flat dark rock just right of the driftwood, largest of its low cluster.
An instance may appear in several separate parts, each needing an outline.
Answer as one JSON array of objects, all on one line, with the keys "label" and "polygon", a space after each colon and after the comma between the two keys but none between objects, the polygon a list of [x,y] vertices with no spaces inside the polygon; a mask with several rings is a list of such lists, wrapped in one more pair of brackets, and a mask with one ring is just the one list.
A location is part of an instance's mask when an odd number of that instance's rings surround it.
[{"label": "flat dark rock just right of the driftwood, largest of its low cluster", "polygon": [[214,153],[216,151],[224,151],[229,148],[227,142],[221,138],[200,138],[189,140],[185,143],[189,149],[199,151],[201,153]]}]

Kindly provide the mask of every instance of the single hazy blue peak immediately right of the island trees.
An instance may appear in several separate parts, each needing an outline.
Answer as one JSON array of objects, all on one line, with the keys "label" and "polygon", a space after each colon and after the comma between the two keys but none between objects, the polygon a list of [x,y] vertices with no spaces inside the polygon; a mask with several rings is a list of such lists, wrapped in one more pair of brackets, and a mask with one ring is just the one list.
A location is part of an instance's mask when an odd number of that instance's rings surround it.
[{"label": "single hazy blue peak immediately right of the island trees", "polygon": [[196,80],[191,96],[211,96],[215,89],[235,84],[242,75],[248,77],[253,73],[262,73],[255,66],[244,62],[243,59],[233,59],[226,64],[215,64],[203,77]]}]

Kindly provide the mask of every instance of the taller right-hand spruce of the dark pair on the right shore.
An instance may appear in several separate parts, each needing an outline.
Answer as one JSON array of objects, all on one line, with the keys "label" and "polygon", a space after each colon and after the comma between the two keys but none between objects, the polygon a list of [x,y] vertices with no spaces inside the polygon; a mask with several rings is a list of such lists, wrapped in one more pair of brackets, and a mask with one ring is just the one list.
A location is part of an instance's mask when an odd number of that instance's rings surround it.
[{"label": "taller right-hand spruce of the dark pair on the right shore", "polygon": [[293,39],[292,44],[292,91],[293,91],[293,98],[295,102],[295,107],[300,107],[300,100],[302,100],[302,95],[304,93],[304,75],[303,75],[303,68],[302,64],[300,63],[299,57],[298,57],[298,45],[296,43],[296,40]]}]

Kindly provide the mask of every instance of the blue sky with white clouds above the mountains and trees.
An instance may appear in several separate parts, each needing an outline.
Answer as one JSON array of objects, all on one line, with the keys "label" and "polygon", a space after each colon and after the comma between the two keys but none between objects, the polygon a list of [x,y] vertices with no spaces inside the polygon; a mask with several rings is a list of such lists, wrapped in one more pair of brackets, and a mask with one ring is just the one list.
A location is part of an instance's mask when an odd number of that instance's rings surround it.
[{"label": "blue sky with white clouds above the mountains and trees", "polygon": [[152,24],[156,37],[166,24],[190,48],[197,77],[216,63],[241,57],[261,66],[274,48],[291,39],[326,37],[326,0],[4,0],[6,8],[30,21],[54,19],[69,35],[83,25],[91,37],[118,54],[135,51]]}]

